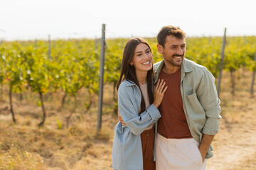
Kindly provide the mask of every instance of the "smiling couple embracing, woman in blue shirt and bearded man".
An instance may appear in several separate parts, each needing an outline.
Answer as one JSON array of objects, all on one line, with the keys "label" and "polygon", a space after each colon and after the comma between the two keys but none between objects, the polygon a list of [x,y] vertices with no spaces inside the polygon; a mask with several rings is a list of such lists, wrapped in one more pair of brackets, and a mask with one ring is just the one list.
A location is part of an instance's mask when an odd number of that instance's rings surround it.
[{"label": "smiling couple embracing, woman in blue shirt and bearded man", "polygon": [[186,33],[164,26],[153,65],[149,44],[130,39],[117,83],[119,123],[114,128],[112,168],[201,170],[213,157],[210,143],[220,123],[215,78],[187,60]]}]

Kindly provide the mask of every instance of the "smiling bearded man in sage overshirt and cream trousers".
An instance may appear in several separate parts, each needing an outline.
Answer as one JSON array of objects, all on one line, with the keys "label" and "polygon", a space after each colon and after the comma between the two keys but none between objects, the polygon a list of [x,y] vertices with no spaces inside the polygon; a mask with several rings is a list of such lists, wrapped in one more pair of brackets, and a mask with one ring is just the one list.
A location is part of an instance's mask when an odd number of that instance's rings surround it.
[{"label": "smiling bearded man in sage overshirt and cream trousers", "polygon": [[155,82],[164,79],[168,89],[159,111],[156,169],[205,169],[213,157],[210,143],[218,132],[220,100],[214,77],[187,60],[186,34],[165,26],[157,35],[157,49],[164,60],[154,64]]}]

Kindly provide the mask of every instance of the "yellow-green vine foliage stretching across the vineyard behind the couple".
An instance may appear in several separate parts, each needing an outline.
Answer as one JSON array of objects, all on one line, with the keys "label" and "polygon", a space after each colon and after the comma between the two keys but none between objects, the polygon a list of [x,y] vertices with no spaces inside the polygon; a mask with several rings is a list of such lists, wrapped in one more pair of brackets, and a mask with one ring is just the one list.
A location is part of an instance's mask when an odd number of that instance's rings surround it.
[{"label": "yellow-green vine foliage stretching across the vineyard behind the couple", "polygon": [[[156,38],[145,38],[151,46],[154,62],[162,60],[157,51]],[[107,83],[116,84],[127,38],[107,40],[105,77]],[[204,65],[215,78],[220,72],[223,38],[186,38],[186,58]],[[51,55],[48,42],[43,40],[2,42],[0,47],[0,84],[9,84],[11,90],[45,94],[61,89],[76,96],[82,88],[90,94],[99,89],[100,48],[95,40],[53,40]],[[228,37],[223,68],[237,70],[247,67],[256,70],[256,38]],[[35,45],[36,44],[36,45]],[[97,47],[97,48],[96,48]]]}]

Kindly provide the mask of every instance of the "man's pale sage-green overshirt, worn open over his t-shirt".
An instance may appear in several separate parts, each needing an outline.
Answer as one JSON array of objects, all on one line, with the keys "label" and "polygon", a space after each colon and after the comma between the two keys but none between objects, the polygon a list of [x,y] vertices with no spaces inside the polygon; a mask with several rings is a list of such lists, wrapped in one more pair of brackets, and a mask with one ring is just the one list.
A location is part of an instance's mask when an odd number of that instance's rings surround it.
[{"label": "man's pale sage-green overshirt, worn open over his t-shirt", "polygon": [[[164,60],[154,64],[155,82]],[[206,67],[183,58],[181,64],[181,97],[183,109],[192,137],[201,142],[203,134],[216,135],[220,123],[220,99],[214,84],[215,78]],[[171,112],[171,111],[170,111]],[[213,157],[210,145],[206,159]]]}]

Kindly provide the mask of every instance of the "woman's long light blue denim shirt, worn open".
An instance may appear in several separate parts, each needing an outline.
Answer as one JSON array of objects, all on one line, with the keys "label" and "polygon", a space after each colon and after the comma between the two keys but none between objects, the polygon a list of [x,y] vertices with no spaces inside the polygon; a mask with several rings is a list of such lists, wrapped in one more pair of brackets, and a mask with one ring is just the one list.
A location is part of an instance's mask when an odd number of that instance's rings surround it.
[{"label": "woman's long light blue denim shirt, worn open", "polygon": [[[117,91],[117,96],[119,113],[127,126],[123,126],[122,123],[118,122],[114,128],[112,168],[143,170],[140,134],[151,123],[157,123],[161,115],[153,104],[139,115],[142,94],[139,87],[130,81],[125,79],[122,81]],[[155,128],[157,128],[156,124]]]}]

